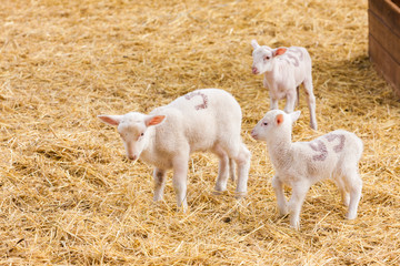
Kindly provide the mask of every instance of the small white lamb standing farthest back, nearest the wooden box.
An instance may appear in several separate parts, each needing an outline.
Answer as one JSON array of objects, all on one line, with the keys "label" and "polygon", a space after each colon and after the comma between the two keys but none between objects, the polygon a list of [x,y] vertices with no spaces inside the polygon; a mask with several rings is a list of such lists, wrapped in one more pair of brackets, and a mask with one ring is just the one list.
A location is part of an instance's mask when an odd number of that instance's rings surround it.
[{"label": "small white lamb standing farthest back, nearest the wooden box", "polygon": [[278,109],[278,100],[286,98],[284,112],[293,112],[296,101],[299,100],[299,85],[302,83],[310,110],[310,126],[317,130],[311,58],[306,48],[271,49],[266,45],[260,47],[256,40],[251,41],[251,45],[254,49],[252,73],[264,73],[263,86],[270,91],[271,110]]}]

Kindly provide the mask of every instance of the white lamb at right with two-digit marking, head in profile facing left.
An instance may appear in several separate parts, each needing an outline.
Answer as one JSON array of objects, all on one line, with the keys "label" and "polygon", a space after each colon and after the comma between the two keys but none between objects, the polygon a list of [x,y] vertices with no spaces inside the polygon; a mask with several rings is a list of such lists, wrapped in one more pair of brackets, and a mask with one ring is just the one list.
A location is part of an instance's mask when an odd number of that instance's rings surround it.
[{"label": "white lamb at right with two-digit marking, head in profile facing left", "polygon": [[[343,204],[349,207],[346,217],[354,219],[361,197],[362,181],[359,175],[363,144],[353,133],[332,131],[311,142],[291,142],[292,123],[300,111],[287,114],[280,110],[267,112],[251,132],[254,140],[266,141],[276,170],[272,178],[281,215],[290,213],[290,224],[300,228],[300,211],[306,194],[318,181],[332,178],[338,185]],[[287,205],[283,184],[292,188]]]}]

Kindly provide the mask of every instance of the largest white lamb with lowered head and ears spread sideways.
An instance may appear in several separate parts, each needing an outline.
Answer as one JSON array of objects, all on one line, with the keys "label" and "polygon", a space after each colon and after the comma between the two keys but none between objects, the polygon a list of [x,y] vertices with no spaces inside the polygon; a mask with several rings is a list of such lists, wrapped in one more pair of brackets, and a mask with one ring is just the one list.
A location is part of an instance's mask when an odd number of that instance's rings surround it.
[{"label": "largest white lamb with lowered head and ears spread sideways", "polygon": [[241,109],[234,98],[218,89],[204,89],[178,98],[150,114],[99,115],[103,122],[118,126],[127,155],[156,166],[154,201],[162,200],[166,171],[173,170],[172,184],[178,207],[187,211],[187,174],[189,156],[211,151],[219,156],[216,191],[227,190],[229,174],[234,180],[238,166],[237,196],[247,193],[250,152],[241,141]]}]

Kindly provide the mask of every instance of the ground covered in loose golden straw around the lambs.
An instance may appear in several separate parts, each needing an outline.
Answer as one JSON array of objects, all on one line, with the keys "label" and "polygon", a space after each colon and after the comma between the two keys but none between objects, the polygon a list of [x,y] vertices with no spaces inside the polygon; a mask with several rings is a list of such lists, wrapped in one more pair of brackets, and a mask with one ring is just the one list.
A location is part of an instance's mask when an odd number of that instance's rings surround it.
[{"label": "ground covered in loose golden straw around the lambs", "polygon": [[[400,103],[368,59],[366,0],[0,1],[0,264],[398,265]],[[251,39],[303,45],[319,131],[304,94],[293,139],[334,129],[364,142],[359,217],[332,182],[313,186],[294,232],[277,214],[266,146],[249,132],[269,108]],[[218,161],[194,154],[188,214],[171,174],[132,165],[98,114],[149,112],[199,88],[231,92],[252,152],[249,195],[216,196]],[[300,91],[301,92],[301,91]],[[288,192],[288,195],[290,192]]]}]

